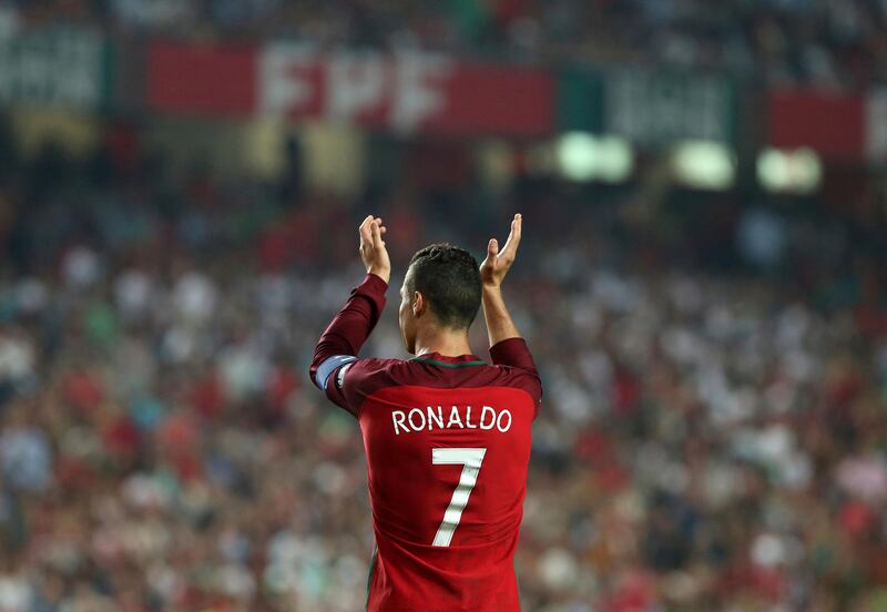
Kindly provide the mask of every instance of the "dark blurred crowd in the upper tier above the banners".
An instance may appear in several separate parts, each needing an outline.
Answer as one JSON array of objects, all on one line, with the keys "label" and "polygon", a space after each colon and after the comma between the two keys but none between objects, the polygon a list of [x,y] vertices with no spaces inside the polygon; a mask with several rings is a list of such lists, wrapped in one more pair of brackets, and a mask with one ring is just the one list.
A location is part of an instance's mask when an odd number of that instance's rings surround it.
[{"label": "dark blurred crowd in the upper tier above the banners", "polygon": [[727,69],[784,85],[887,81],[884,0],[3,0],[2,7],[8,19],[99,24],[122,35],[275,37],[519,61]]}]

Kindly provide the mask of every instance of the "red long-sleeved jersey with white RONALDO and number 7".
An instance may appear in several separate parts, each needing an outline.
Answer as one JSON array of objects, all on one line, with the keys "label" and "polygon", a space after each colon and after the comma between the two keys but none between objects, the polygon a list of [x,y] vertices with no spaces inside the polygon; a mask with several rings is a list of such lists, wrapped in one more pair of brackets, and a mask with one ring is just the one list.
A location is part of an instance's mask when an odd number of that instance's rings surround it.
[{"label": "red long-sleeved jersey with white RONALDO and number 7", "polygon": [[513,557],[541,399],[521,338],[473,355],[354,357],[385,305],[368,275],[318,343],[312,377],[360,425],[376,537],[370,611],[520,610]]}]

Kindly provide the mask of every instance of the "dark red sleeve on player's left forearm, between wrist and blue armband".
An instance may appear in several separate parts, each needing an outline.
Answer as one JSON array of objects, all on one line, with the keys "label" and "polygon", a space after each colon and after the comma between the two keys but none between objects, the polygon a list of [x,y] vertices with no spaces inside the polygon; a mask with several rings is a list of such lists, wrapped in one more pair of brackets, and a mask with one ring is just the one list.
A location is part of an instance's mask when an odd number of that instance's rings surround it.
[{"label": "dark red sleeve on player's left forearm, between wrist and blue armband", "polygon": [[368,274],[364,282],[351,290],[348,302],[333,318],[317,341],[310,365],[310,376],[315,379],[317,368],[338,355],[357,355],[360,347],[376,327],[385,308],[387,283]]}]

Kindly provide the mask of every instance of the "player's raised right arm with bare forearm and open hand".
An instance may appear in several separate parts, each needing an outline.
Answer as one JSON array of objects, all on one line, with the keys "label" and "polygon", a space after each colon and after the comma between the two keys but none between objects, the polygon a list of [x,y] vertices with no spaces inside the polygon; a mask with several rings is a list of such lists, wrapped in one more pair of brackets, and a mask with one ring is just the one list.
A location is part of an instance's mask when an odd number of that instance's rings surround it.
[{"label": "player's raised right arm with bare forearm and open hand", "polygon": [[490,357],[493,364],[524,369],[538,379],[539,373],[527,343],[518,332],[502,297],[502,280],[511,268],[511,264],[514,263],[518,253],[521,222],[521,216],[514,215],[511,222],[511,232],[502,251],[499,251],[499,242],[496,238],[491,238],[487,245],[487,258],[480,264],[483,318],[487,322]]}]

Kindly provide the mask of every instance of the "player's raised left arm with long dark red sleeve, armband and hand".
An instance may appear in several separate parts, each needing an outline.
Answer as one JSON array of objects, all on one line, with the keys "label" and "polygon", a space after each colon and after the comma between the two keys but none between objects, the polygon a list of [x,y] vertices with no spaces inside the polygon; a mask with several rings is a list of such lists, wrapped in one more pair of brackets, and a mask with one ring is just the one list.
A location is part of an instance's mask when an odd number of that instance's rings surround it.
[{"label": "player's raised left arm with long dark red sleeve, armband and hand", "polygon": [[340,406],[344,402],[341,394],[330,392],[336,390],[329,385],[332,375],[357,360],[360,347],[385,308],[385,290],[391,276],[391,263],[383,241],[385,232],[381,220],[373,215],[360,224],[360,259],[367,268],[367,276],[351,290],[345,306],[333,318],[314,349],[312,381]]}]

